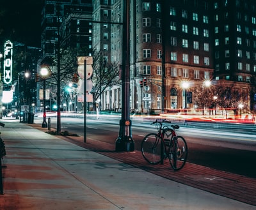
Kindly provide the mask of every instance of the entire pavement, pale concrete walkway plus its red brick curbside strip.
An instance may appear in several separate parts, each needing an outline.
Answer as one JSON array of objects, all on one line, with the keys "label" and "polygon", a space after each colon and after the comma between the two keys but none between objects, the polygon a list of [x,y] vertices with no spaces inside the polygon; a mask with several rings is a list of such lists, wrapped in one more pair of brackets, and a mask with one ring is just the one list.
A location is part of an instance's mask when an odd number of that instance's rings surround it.
[{"label": "entire pavement, pale concrete walkway plus its red brick curbside strip", "polygon": [[167,163],[148,165],[138,151],[115,153],[114,145],[93,139],[3,123],[1,210],[256,209],[255,179],[192,164],[173,172]]}]

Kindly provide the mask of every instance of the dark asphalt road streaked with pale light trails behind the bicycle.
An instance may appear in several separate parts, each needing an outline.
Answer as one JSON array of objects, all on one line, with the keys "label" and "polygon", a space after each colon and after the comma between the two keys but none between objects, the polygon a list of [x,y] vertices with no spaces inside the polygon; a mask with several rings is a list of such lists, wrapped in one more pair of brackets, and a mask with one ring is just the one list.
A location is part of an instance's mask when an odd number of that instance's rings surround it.
[{"label": "dark asphalt road streaked with pale light trails behind the bicycle", "polygon": [[[36,119],[37,121],[40,119]],[[86,136],[104,142],[115,143],[118,137],[119,120],[115,117],[86,120]],[[51,118],[52,128],[56,118]],[[84,135],[84,120],[81,118],[61,118],[61,130]],[[140,150],[140,142],[147,133],[156,133],[149,121],[132,122],[132,139]],[[178,130],[189,148],[188,161],[213,169],[224,170],[243,176],[256,178],[256,133],[244,134],[234,131],[207,130],[181,127]]]}]

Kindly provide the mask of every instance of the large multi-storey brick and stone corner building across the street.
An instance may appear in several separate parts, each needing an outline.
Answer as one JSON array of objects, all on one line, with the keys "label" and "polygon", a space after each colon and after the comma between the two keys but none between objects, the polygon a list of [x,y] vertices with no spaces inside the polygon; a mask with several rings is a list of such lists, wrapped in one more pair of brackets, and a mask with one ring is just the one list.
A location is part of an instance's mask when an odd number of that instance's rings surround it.
[{"label": "large multi-storey brick and stone corner building across the street", "polygon": [[[93,25],[93,47],[120,64],[122,24],[116,22],[123,21],[123,3],[93,0],[93,20],[102,22]],[[131,109],[199,108],[195,89],[210,80],[237,89],[246,95],[237,102],[256,110],[255,6],[250,0],[131,1]],[[119,103],[115,89],[103,94],[103,107]]]}]

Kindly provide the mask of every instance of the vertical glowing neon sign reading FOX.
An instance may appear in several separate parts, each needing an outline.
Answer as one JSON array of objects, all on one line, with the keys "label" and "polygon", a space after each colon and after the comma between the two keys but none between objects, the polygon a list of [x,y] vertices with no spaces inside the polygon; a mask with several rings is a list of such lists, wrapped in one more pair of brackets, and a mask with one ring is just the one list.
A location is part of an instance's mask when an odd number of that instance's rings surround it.
[{"label": "vertical glowing neon sign reading FOX", "polygon": [[12,47],[11,41],[4,43],[4,83],[10,84],[12,82]]}]

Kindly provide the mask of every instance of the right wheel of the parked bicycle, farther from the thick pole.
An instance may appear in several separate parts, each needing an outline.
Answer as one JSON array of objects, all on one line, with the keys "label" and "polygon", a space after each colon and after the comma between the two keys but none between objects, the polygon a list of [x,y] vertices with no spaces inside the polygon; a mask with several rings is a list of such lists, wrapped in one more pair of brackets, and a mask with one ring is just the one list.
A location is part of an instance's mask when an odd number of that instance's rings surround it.
[{"label": "right wheel of the parked bicycle, farther from the thick pole", "polygon": [[170,144],[169,161],[174,170],[184,167],[188,157],[188,146],[186,140],[181,137],[173,137]]}]

